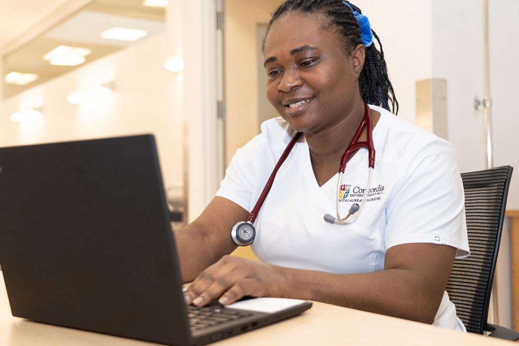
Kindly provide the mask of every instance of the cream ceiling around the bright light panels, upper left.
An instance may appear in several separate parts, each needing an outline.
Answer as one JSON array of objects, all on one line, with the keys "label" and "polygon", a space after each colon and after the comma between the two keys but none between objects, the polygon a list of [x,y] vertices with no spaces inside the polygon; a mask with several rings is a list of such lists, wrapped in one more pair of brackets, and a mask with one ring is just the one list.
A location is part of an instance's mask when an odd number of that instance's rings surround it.
[{"label": "cream ceiling around the bright light panels, upper left", "polygon": [[[2,46],[22,35],[32,25],[45,20],[45,17],[66,1],[0,0],[0,51]],[[16,6],[13,3],[16,3]],[[42,6],[44,3],[46,5]],[[147,36],[163,31],[165,29],[165,9],[146,7],[142,3],[143,0],[95,0],[72,17],[65,18],[59,25],[3,57],[4,75],[11,71],[38,75],[35,81],[25,86],[6,84],[4,76],[1,76],[2,82],[4,82],[2,88],[4,98],[9,98],[83,65],[50,65],[43,59],[43,56],[58,46],[90,49],[91,53],[86,57],[85,62],[89,63],[133,44],[133,42],[100,37],[101,32],[114,26],[143,29],[147,31]],[[49,4],[54,6],[51,8]],[[28,10],[28,8],[31,9]],[[39,13],[38,10],[40,10]],[[9,31],[9,24],[5,24],[4,20],[9,21],[9,18],[17,17],[23,18],[23,20],[18,21],[19,23],[10,21],[10,25],[16,26],[17,30]]]}]

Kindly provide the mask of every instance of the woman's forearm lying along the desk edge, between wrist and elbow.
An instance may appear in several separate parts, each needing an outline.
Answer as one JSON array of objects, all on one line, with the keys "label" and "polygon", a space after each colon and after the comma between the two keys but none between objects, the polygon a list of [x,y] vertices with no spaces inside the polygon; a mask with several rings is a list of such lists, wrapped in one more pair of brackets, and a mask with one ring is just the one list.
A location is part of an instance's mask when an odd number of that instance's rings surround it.
[{"label": "woman's forearm lying along the desk edge, between wrist and elbow", "polygon": [[316,300],[407,320],[432,323],[442,294],[407,269],[365,274],[330,274],[281,268],[288,284],[284,296]]}]

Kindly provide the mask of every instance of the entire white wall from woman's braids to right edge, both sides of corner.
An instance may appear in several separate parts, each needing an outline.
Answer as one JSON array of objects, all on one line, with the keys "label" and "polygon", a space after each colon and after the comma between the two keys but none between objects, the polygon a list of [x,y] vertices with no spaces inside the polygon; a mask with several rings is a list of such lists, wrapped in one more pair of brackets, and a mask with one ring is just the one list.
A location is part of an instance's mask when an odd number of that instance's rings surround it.
[{"label": "entire white wall from woman's braids to right edge, both sides of corner", "polygon": [[[447,80],[448,140],[456,149],[461,172],[485,169],[483,109],[482,0],[362,0],[362,12],[382,41],[388,71],[400,102],[399,117],[414,122],[415,81]],[[516,0],[489,0],[490,95],[493,99],[494,166],[519,168],[519,27],[512,25]],[[390,15],[388,15],[390,13]],[[508,209],[519,209],[519,178],[512,178]]]}]

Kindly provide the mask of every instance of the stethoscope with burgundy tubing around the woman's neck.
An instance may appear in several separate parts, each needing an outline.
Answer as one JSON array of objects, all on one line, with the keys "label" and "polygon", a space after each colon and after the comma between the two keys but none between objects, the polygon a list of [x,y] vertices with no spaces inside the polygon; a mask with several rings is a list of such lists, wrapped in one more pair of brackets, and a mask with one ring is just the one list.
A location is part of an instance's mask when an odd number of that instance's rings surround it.
[{"label": "stethoscope with burgundy tubing around the woman's neck", "polygon": [[[367,127],[367,128],[366,128]],[[360,135],[362,134],[362,131],[366,128],[366,141],[359,142]],[[260,195],[260,198],[258,198],[256,204],[254,205],[254,208],[249,214],[249,217],[247,217],[247,221],[240,221],[236,225],[234,225],[233,229],[230,232],[231,238],[233,239],[233,242],[236,245],[239,246],[247,246],[250,245],[254,241],[254,237],[256,236],[256,230],[254,228],[254,221],[256,220],[256,217],[258,213],[260,212],[260,209],[263,205],[263,202],[265,201],[265,198],[267,198],[268,192],[270,191],[270,188],[272,187],[272,183],[274,183],[274,178],[276,177],[276,173],[278,172],[279,168],[281,167],[281,164],[286,160],[286,158],[289,156],[290,151],[294,147],[295,143],[299,139],[299,136],[301,136],[302,132],[296,132],[296,134],[292,137],[289,144],[286,146],[285,150],[283,151],[283,154],[281,154],[281,157],[278,160],[278,163],[276,163],[276,167],[274,167],[274,170],[270,174],[270,177],[268,178],[267,184],[263,188],[263,191]],[[360,148],[365,148],[368,151],[368,167],[370,168],[370,173],[367,178],[367,185],[366,189],[364,190],[364,196],[362,197],[362,202],[359,205],[358,203],[353,203],[350,206],[350,209],[348,210],[348,213],[345,217],[340,217],[339,214],[339,194],[340,194],[340,182],[342,181],[344,170],[346,169],[346,163],[348,162],[348,159],[350,156],[359,150]],[[324,215],[324,220],[326,222],[329,222],[331,224],[336,225],[348,225],[355,220],[359,218],[360,213],[362,212],[362,209],[364,207],[364,203],[366,202],[366,197],[368,195],[368,191],[371,186],[371,176],[373,174],[373,169],[375,168],[375,148],[373,145],[373,127],[371,123],[370,118],[370,108],[367,106],[367,103],[364,102],[364,117],[362,118],[362,121],[357,128],[357,131],[353,135],[353,138],[351,139],[351,142],[348,144],[348,147],[346,148],[346,151],[344,151],[343,157],[340,159],[340,166],[339,166],[339,179],[337,183],[337,217],[333,217],[330,214]]]}]

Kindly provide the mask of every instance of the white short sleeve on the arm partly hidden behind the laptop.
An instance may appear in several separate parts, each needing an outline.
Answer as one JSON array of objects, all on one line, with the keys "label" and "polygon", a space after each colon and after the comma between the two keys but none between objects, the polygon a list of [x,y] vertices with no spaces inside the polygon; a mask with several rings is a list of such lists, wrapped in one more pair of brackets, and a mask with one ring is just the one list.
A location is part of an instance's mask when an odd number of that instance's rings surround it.
[{"label": "white short sleeve on the arm partly hidden behind the laptop", "polygon": [[259,134],[242,148],[236,150],[236,154],[225,171],[220,189],[216,191],[216,196],[231,200],[248,212],[252,209],[251,200],[257,171],[255,165],[262,138],[263,134]]}]

